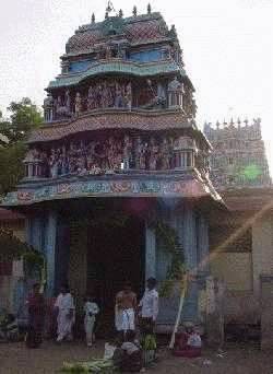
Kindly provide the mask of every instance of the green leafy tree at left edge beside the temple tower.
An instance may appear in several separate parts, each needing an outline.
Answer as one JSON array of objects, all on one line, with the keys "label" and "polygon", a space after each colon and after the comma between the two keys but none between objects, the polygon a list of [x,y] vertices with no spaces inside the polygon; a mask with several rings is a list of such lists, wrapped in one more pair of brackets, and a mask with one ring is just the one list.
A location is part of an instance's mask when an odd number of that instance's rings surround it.
[{"label": "green leafy tree at left edge beside the temple tower", "polygon": [[8,113],[10,119],[4,119],[0,113],[0,197],[12,190],[22,178],[22,161],[26,152],[24,141],[29,131],[43,121],[40,110],[28,97],[12,102]]}]

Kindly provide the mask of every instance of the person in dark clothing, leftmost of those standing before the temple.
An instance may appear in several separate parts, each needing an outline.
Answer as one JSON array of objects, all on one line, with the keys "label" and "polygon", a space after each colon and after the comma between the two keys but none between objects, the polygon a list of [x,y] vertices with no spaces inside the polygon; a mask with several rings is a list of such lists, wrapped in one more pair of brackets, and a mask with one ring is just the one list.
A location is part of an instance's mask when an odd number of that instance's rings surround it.
[{"label": "person in dark clothing, leftmost of those standing before the temple", "polygon": [[35,283],[33,285],[33,292],[26,301],[28,308],[28,326],[25,342],[27,348],[38,348],[43,341],[46,307],[44,295],[39,290],[39,284]]}]

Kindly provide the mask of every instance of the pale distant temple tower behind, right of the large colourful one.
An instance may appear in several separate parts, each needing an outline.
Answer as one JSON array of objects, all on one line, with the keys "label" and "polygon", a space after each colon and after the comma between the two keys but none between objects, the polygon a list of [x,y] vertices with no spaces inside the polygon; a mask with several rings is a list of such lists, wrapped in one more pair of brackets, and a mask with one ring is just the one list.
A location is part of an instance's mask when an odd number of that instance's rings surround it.
[{"label": "pale distant temple tower behind, right of the large colourful one", "polygon": [[204,133],[213,147],[211,179],[217,189],[271,185],[260,118],[205,124]]}]

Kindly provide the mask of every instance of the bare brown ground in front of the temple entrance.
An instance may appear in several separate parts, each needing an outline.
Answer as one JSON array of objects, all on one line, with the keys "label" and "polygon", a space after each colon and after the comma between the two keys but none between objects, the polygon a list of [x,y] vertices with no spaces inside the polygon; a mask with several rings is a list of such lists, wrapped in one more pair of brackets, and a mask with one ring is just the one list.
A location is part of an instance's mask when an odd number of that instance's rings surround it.
[{"label": "bare brown ground in front of the temple entrance", "polygon": [[[38,350],[27,350],[23,343],[0,344],[1,374],[54,374],[63,361],[86,360],[102,357],[103,343],[88,350],[83,343],[56,346],[45,342]],[[161,360],[154,374],[273,374],[273,354],[265,354],[250,346],[226,347],[223,357],[204,351],[200,359],[175,359],[167,351],[161,351]]]}]

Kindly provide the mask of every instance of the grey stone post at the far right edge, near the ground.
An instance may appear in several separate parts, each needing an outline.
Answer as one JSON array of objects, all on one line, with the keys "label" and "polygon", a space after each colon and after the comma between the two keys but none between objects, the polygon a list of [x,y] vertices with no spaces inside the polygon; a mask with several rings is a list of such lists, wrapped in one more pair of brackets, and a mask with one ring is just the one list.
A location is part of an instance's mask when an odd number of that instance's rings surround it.
[{"label": "grey stone post at the far right edge, near the ground", "polygon": [[261,349],[273,349],[273,274],[261,276]]}]

